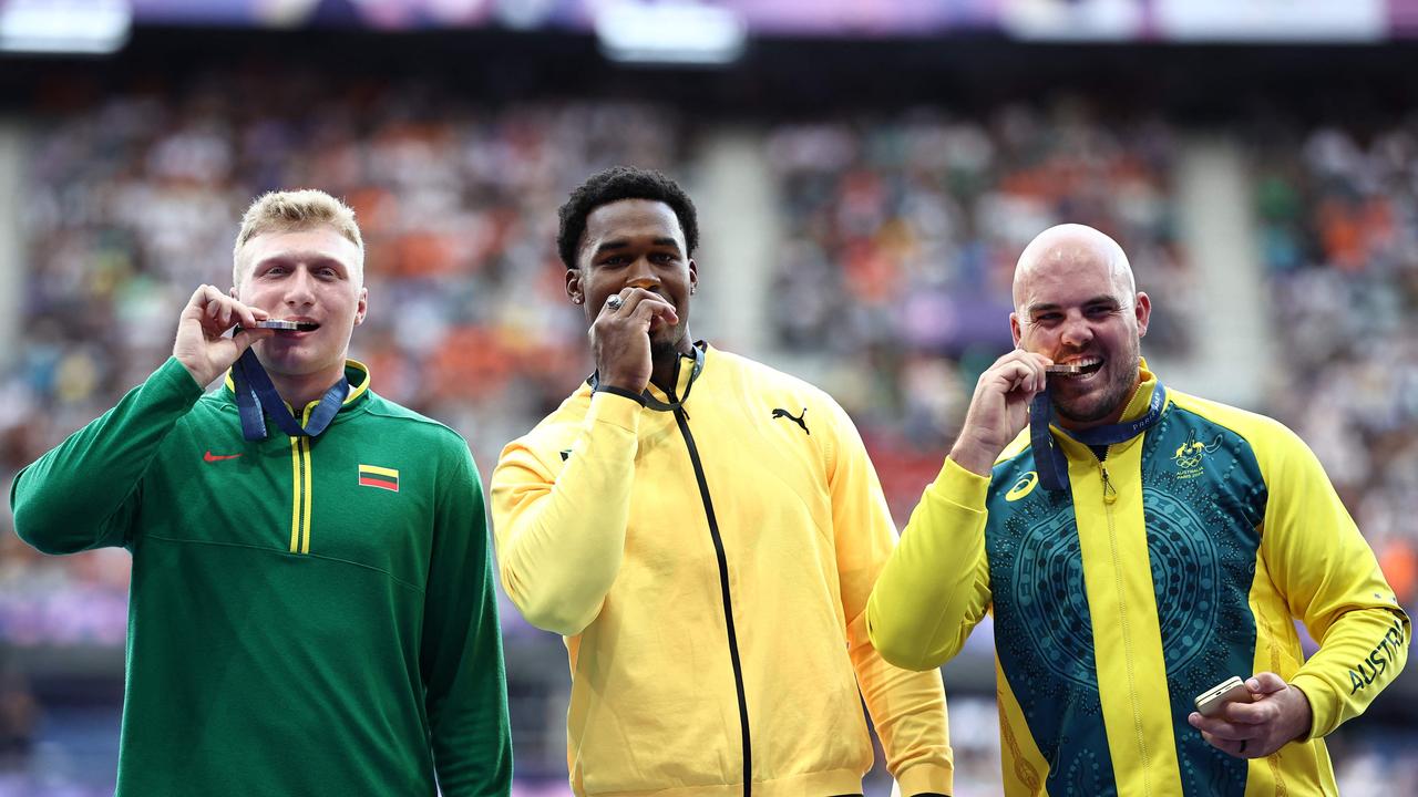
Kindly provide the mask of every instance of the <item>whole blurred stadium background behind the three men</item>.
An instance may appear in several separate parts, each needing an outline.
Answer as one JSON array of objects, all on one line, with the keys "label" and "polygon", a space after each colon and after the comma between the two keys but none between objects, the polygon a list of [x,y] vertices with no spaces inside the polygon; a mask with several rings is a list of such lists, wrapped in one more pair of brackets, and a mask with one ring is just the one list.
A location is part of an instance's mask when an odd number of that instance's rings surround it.
[{"label": "whole blurred stadium background behind the three men", "polygon": [[[1079,221],[1167,384],[1296,428],[1412,611],[1415,74],[1418,0],[0,0],[0,481],[306,186],[359,214],[374,390],[491,474],[590,372],[556,207],[634,163],[699,206],[695,332],[831,391],[898,523],[1010,346],[1020,250]],[[112,793],[128,572],[0,509],[0,794]],[[502,624],[518,793],[567,794],[564,648]],[[944,669],[959,796],[1000,790],[991,650]],[[1418,794],[1415,706],[1409,668],[1330,737],[1344,794]]]}]

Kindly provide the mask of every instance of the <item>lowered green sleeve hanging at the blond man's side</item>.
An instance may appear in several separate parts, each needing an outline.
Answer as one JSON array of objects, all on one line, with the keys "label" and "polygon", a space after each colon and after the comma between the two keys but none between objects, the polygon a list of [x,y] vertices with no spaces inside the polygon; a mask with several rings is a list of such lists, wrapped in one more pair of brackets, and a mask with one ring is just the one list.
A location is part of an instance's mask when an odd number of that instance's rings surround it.
[{"label": "lowered green sleeve hanging at the blond man's side", "polygon": [[440,478],[420,671],[444,797],[512,790],[508,679],[482,484],[467,445]]}]

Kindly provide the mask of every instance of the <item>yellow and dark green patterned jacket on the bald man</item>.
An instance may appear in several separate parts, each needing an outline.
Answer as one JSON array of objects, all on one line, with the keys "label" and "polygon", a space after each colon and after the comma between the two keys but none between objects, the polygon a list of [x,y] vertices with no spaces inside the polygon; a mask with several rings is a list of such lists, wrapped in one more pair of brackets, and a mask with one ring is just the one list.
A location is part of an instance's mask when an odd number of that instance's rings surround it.
[{"label": "yellow and dark green patterned jacket on the bald man", "polygon": [[[1173,390],[1103,458],[1054,437],[1071,491],[1038,485],[1028,431],[990,478],[946,461],[872,594],[876,648],[933,668],[993,613],[1008,794],[1334,794],[1323,737],[1402,668],[1409,621],[1314,455]],[[1266,759],[1211,747],[1193,699],[1262,671],[1306,693],[1310,733]]]}]

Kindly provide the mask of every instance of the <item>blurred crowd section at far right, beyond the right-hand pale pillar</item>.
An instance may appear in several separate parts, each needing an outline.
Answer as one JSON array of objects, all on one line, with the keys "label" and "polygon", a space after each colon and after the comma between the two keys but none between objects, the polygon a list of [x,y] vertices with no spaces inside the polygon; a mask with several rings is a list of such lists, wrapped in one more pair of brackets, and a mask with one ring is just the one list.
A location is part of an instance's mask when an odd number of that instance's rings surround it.
[{"label": "blurred crowd section at far right, beyond the right-hand pale pillar", "polygon": [[[1268,132],[1255,196],[1279,362],[1271,408],[1324,462],[1418,604],[1418,119]],[[1288,146],[1273,146],[1288,140]]]}]

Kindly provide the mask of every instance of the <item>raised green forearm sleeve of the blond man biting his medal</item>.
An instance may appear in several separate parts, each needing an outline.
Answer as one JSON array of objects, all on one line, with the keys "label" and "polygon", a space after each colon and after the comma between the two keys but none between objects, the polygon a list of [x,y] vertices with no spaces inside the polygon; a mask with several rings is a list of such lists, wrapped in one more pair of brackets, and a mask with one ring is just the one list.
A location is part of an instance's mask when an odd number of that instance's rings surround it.
[{"label": "raised green forearm sleeve of the blond man biting his medal", "polygon": [[143,472],[199,398],[201,386],[169,357],[116,407],[20,471],[10,486],[20,539],[44,553],[126,545]]}]

